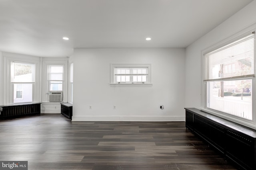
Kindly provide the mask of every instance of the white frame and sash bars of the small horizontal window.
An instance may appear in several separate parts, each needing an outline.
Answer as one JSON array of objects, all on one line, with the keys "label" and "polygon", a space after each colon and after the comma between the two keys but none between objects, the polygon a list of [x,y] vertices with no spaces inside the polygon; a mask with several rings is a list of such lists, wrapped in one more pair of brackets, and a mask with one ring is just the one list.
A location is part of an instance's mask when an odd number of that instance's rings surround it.
[{"label": "white frame and sash bars of the small horizontal window", "polygon": [[[131,80],[130,82],[125,82],[125,83],[118,83],[115,82],[115,69],[116,68],[147,68],[147,82],[138,82],[138,83],[132,83]],[[124,74],[125,75],[125,74]],[[132,76],[131,74],[129,74]],[[135,75],[135,74],[134,74]],[[110,64],[110,86],[116,87],[116,86],[152,86],[152,80],[151,80],[151,64]]]}]

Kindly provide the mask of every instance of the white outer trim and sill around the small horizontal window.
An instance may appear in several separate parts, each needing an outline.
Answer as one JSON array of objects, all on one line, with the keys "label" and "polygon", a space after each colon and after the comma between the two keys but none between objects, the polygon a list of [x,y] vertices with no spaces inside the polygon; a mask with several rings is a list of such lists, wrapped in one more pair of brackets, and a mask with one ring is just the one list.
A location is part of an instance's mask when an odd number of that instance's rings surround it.
[{"label": "white outer trim and sill around the small horizontal window", "polygon": [[[148,82],[147,83],[114,83],[114,69],[116,67],[147,67],[148,68]],[[110,86],[111,87],[151,87],[153,86],[151,80],[151,64],[110,64]]]}]

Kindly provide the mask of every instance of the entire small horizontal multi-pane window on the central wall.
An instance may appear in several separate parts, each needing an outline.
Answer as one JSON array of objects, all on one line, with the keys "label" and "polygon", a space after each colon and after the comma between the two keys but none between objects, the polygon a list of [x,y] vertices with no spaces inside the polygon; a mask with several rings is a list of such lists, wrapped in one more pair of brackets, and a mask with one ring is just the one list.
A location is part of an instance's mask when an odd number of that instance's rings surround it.
[{"label": "entire small horizontal multi-pane window on the central wall", "polygon": [[150,64],[111,64],[110,85],[148,86],[151,84]]}]

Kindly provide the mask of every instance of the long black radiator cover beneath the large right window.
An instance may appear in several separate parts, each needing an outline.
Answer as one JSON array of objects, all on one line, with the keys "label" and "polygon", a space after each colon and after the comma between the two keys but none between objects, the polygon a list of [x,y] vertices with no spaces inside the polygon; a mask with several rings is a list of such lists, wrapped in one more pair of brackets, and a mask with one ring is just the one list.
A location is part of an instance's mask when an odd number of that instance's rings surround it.
[{"label": "long black radiator cover beneath the large right window", "polygon": [[245,170],[256,169],[256,130],[195,108],[186,109],[186,127],[228,160]]}]

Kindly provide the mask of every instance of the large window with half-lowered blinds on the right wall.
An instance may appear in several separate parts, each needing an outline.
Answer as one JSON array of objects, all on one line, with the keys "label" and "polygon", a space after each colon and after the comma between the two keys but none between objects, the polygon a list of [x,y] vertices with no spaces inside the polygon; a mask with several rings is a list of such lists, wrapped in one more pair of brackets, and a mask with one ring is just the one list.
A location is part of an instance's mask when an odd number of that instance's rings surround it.
[{"label": "large window with half-lowered blinds on the right wall", "polygon": [[204,54],[205,107],[253,119],[255,32]]}]

